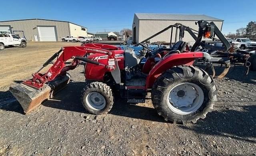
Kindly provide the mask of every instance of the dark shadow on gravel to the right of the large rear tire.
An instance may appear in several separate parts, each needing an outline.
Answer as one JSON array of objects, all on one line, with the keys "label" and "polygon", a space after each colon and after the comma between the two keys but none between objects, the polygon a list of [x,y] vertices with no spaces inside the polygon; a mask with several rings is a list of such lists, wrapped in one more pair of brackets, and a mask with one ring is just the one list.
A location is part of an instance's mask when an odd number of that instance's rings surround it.
[{"label": "dark shadow on gravel to the right of the large rear tire", "polygon": [[239,107],[239,111],[228,109],[223,112],[209,113],[207,118],[199,120],[197,124],[180,127],[193,130],[197,134],[223,136],[228,139],[256,143],[256,106],[251,104]]}]

